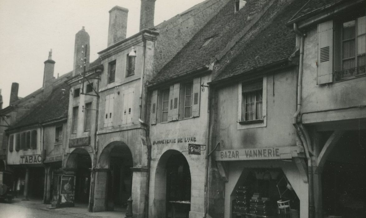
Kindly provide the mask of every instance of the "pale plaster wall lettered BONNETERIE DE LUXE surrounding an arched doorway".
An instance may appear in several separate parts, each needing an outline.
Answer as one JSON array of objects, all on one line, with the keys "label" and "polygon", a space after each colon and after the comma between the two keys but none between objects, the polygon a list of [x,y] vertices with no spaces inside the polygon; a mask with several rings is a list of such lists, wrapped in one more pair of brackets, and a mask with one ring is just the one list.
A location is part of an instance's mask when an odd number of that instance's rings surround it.
[{"label": "pale plaster wall lettered BONNETERIE DE LUXE surrounding an arched doorway", "polygon": [[[210,76],[202,76],[201,84],[210,81]],[[161,217],[165,208],[165,190],[156,191],[166,180],[157,171],[161,167],[162,155],[168,150],[179,151],[187,159],[191,173],[191,210],[190,218],[202,217],[204,212],[205,157],[207,146],[201,146],[201,155],[188,154],[188,143],[207,145],[206,125],[208,119],[208,89],[200,96],[199,117],[178,121],[157,123],[150,126],[152,160],[150,167],[149,214]],[[162,143],[164,141],[164,143]],[[191,142],[189,142],[191,141]],[[165,157],[168,158],[168,157]],[[164,164],[164,163],[163,163]],[[164,167],[164,166],[163,166]],[[161,182],[158,182],[161,181]],[[165,186],[164,186],[165,187]]]}]

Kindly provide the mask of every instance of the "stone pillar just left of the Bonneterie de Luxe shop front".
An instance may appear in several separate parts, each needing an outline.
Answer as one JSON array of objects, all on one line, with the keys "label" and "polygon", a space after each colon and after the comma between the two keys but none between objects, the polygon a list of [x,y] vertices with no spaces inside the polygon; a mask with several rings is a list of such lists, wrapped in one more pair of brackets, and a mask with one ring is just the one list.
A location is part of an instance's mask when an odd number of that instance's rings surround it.
[{"label": "stone pillar just left of the Bonneterie de Luxe shop front", "polygon": [[[132,213],[134,218],[144,217],[146,194],[146,167],[133,167],[132,171]],[[148,202],[146,202],[148,203]]]}]

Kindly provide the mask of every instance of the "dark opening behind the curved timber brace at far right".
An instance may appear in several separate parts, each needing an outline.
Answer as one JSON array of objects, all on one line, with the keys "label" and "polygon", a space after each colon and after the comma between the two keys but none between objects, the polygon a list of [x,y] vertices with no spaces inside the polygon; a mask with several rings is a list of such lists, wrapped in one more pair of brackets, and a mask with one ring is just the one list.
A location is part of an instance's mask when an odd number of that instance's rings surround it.
[{"label": "dark opening behind the curved timber brace at far right", "polygon": [[[329,135],[323,134],[325,140]],[[324,215],[337,215],[342,218],[366,217],[365,181],[366,131],[345,132],[324,164]]]}]

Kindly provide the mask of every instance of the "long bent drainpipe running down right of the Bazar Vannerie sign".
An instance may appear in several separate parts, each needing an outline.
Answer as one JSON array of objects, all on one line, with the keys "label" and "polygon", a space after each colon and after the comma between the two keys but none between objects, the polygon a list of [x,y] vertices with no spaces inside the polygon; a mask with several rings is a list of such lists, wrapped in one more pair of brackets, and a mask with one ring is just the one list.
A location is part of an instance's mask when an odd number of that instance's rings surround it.
[{"label": "long bent drainpipe running down right of the Bazar Vannerie sign", "polygon": [[311,141],[309,133],[307,132],[304,125],[301,123],[301,98],[302,98],[302,74],[303,74],[303,60],[304,60],[304,34],[300,32],[296,23],[294,23],[294,31],[300,37],[300,60],[299,60],[299,74],[298,74],[298,87],[297,87],[297,110],[292,117],[292,124],[294,125],[300,142],[305,150],[307,158],[307,173],[309,180],[309,218],[314,218],[314,188],[313,188],[313,165],[310,154],[313,154],[311,149]]}]

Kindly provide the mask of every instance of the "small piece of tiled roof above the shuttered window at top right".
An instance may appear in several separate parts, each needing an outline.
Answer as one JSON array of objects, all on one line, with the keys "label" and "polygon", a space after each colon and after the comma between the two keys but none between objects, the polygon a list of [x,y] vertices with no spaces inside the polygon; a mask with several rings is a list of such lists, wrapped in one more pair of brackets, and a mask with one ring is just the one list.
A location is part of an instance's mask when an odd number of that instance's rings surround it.
[{"label": "small piece of tiled roof above the shuttered window at top right", "polygon": [[330,5],[336,5],[338,3],[343,3],[347,1],[353,1],[353,0],[309,0],[307,1],[300,10],[292,16],[290,20],[296,20],[301,17],[306,17],[307,15],[311,15],[314,13],[317,13],[318,11],[329,7]]}]

